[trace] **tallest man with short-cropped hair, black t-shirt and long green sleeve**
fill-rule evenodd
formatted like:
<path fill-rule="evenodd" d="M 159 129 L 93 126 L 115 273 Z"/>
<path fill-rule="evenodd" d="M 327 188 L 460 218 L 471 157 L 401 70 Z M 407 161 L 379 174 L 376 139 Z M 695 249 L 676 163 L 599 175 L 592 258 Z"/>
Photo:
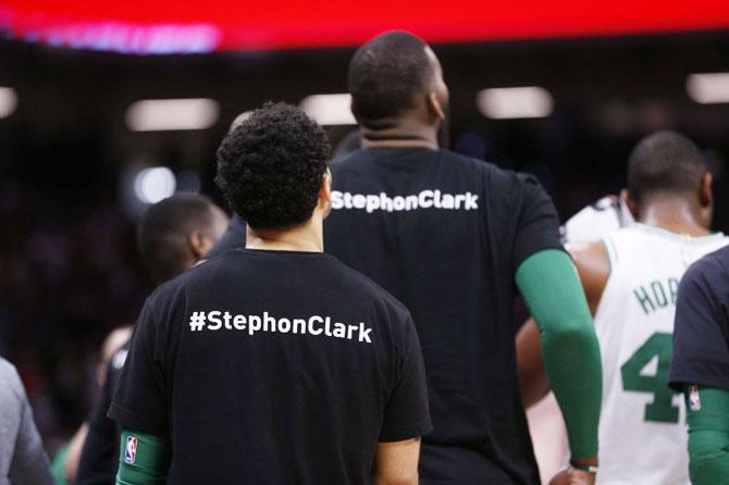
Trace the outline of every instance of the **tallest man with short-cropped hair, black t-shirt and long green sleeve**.
<path fill-rule="evenodd" d="M 434 430 L 423 483 L 539 482 L 515 363 L 518 287 L 542 329 L 573 467 L 594 480 L 601 369 L 592 320 L 533 178 L 438 150 L 448 89 L 433 51 L 407 33 L 349 65 L 363 149 L 333 163 L 326 249 L 412 312 Z"/>

